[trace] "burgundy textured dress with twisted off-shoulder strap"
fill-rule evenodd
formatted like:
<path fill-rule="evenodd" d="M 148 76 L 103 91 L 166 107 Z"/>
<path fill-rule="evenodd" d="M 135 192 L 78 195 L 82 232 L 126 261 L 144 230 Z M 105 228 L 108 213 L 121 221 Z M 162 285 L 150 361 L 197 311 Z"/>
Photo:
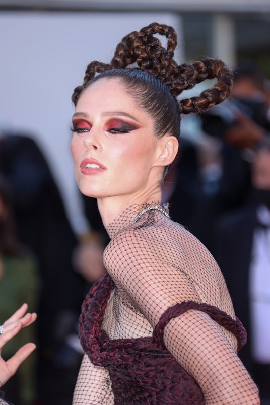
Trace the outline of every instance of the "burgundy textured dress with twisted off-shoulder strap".
<path fill-rule="evenodd" d="M 108 370 L 114 403 L 204 404 L 204 396 L 197 382 L 164 346 L 164 327 L 170 319 L 189 309 L 203 311 L 236 336 L 239 350 L 246 343 L 242 323 L 214 306 L 188 301 L 165 311 L 154 329 L 153 337 L 109 339 L 102 330 L 102 320 L 114 288 L 109 275 L 100 279 L 87 295 L 80 317 L 82 347 L 94 365 Z"/>

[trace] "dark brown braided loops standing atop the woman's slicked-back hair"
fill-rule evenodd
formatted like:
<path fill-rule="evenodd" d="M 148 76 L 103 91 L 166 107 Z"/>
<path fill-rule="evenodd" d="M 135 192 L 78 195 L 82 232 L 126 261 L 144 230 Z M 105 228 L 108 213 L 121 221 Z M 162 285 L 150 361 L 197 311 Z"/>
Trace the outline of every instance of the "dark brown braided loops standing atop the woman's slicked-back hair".
<path fill-rule="evenodd" d="M 162 46 L 156 35 L 167 38 L 166 48 Z M 177 65 L 173 59 L 176 45 L 175 30 L 165 24 L 152 23 L 140 31 L 132 31 L 116 46 L 110 64 L 93 61 L 87 66 L 84 82 L 82 86 L 76 87 L 72 100 L 75 104 L 77 103 L 80 93 L 96 73 L 110 69 L 125 69 L 137 63 L 139 69 L 149 72 L 163 82 L 174 97 L 206 79 L 217 79 L 212 88 L 204 90 L 198 97 L 178 102 L 179 109 L 184 114 L 199 113 L 222 102 L 229 95 L 232 87 L 232 71 L 221 60 L 211 58 L 192 64 Z"/>

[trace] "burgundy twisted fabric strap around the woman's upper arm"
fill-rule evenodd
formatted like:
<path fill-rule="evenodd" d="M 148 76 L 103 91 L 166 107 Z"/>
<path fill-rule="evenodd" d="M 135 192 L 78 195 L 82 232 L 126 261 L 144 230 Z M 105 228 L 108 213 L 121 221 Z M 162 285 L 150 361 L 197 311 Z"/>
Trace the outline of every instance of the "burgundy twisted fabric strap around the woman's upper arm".
<path fill-rule="evenodd" d="M 238 342 L 238 351 L 242 349 L 243 346 L 246 344 L 247 340 L 247 333 L 242 324 L 242 322 L 236 318 L 234 320 L 230 315 L 227 315 L 226 312 L 221 311 L 219 308 L 209 305 L 209 304 L 198 304 L 194 301 L 184 301 L 180 304 L 175 304 L 172 307 L 168 308 L 160 317 L 159 322 L 155 326 L 153 331 L 153 341 L 156 345 L 160 348 L 166 348 L 164 345 L 164 328 L 167 323 L 180 315 L 184 312 L 195 309 L 197 311 L 203 311 L 207 315 L 209 315 L 214 321 L 216 321 L 219 325 L 225 327 L 225 329 L 229 330 L 233 333 Z"/>

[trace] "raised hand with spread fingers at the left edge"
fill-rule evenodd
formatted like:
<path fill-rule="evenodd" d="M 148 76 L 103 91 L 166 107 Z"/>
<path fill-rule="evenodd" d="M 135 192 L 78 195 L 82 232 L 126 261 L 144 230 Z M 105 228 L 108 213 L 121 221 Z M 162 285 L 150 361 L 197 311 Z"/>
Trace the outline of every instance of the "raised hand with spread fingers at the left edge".
<path fill-rule="evenodd" d="M 1 357 L 1 351 L 5 344 L 10 341 L 22 328 L 31 325 L 37 315 L 26 313 L 27 304 L 23 304 L 9 319 L 3 323 L 3 332 L 0 334 L 0 387 L 15 374 L 20 364 L 35 350 L 36 345 L 27 343 L 22 346 L 14 356 L 5 361 Z"/>

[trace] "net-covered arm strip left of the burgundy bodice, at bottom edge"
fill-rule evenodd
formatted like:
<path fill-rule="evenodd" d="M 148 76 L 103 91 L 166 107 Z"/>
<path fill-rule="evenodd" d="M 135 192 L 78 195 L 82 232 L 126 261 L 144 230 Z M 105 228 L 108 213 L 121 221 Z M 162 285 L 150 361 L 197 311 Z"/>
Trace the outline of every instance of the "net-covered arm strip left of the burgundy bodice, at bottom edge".
<path fill-rule="evenodd" d="M 113 405 L 114 396 L 111 380 L 104 367 L 95 366 L 87 355 L 84 356 L 78 375 L 73 405 Z"/>

